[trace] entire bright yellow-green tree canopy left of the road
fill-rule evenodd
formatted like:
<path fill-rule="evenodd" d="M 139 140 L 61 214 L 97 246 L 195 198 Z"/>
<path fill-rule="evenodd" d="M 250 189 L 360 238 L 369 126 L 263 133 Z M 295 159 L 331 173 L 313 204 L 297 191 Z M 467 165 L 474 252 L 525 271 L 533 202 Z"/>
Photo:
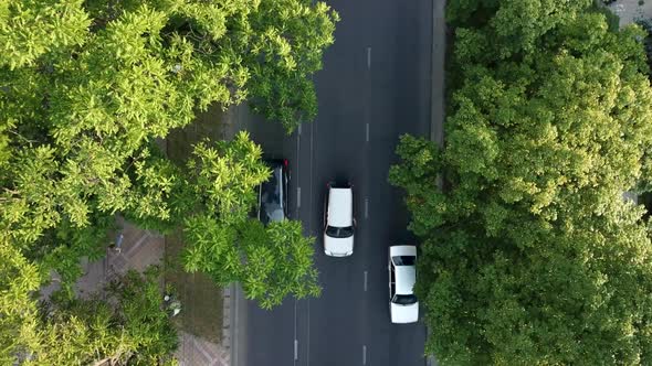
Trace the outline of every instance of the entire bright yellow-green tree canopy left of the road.
<path fill-rule="evenodd" d="M 46 324 L 28 301 L 51 271 L 74 299 L 80 259 L 104 252 L 116 214 L 185 227 L 186 268 L 242 281 L 265 308 L 318 294 L 301 225 L 249 217 L 270 172 L 245 133 L 201 142 L 179 165 L 154 146 L 196 111 L 250 96 L 288 130 L 314 118 L 309 77 L 336 21 L 304 0 L 0 2 L 0 291 L 21 291 L 0 292 L 1 364 L 29 352 L 33 364 L 167 362 L 173 334 L 156 286 L 129 278 L 147 299 L 114 299 L 126 301 L 117 313 L 66 304 Z"/>

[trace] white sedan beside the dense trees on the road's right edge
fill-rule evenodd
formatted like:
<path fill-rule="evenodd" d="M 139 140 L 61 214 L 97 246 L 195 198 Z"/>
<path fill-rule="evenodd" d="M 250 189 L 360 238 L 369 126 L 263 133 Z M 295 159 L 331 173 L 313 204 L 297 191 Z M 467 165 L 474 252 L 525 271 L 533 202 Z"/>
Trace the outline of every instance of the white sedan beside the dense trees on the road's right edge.
<path fill-rule="evenodd" d="M 417 282 L 417 247 L 389 247 L 389 313 L 392 323 L 419 321 L 419 301 L 414 295 Z"/>

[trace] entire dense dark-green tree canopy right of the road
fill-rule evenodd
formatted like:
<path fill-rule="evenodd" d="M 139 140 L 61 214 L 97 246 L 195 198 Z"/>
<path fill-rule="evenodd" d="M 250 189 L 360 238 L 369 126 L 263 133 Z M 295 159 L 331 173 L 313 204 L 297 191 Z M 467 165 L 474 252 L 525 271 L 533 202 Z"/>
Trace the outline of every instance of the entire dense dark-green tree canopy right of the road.
<path fill-rule="evenodd" d="M 492 3 L 487 24 L 513 4 Z M 459 34 L 444 149 L 403 137 L 390 171 L 423 239 L 427 352 L 452 365 L 650 364 L 651 233 L 622 198 L 649 186 L 641 30 L 612 33 L 585 11 L 533 25 L 532 42 L 493 40 L 509 57 L 473 50 L 494 31 Z"/>

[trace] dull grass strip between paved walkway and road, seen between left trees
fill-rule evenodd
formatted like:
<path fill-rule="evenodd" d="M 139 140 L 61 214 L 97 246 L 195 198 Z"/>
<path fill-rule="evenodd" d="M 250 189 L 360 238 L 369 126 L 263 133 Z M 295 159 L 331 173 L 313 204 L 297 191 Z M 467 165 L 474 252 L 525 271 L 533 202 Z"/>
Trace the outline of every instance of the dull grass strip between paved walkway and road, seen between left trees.
<path fill-rule="evenodd" d="M 193 123 L 175 130 L 167 137 L 167 154 L 179 165 L 185 165 L 192 146 L 206 138 L 223 139 L 222 111 L 211 106 L 199 114 Z M 180 229 L 166 236 L 165 281 L 170 284 L 179 301 L 181 312 L 173 317 L 177 326 L 206 341 L 220 343 L 222 338 L 222 290 L 203 273 L 188 273 L 181 265 L 183 236 Z"/>

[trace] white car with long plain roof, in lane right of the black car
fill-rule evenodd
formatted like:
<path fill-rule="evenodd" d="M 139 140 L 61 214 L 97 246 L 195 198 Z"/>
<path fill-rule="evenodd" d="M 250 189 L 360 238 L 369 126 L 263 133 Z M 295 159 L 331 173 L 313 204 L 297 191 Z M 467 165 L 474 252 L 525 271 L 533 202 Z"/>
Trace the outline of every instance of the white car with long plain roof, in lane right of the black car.
<path fill-rule="evenodd" d="M 330 257 L 354 254 L 354 190 L 328 184 L 324 205 L 324 252 Z"/>

